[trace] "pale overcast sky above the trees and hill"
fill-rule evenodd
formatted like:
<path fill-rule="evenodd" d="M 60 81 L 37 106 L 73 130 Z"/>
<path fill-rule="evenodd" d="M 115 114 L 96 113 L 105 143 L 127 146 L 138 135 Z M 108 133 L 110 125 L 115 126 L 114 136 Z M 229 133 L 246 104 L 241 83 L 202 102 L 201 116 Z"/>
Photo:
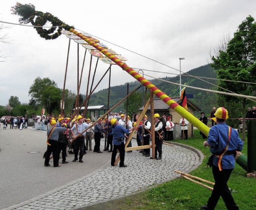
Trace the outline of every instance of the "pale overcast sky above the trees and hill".
<path fill-rule="evenodd" d="M 207 57 L 221 37 L 231 36 L 238 25 L 248 15 L 256 18 L 255 0 L 129 0 L 129 1 L 67 1 L 67 0 L 20 0 L 21 4 L 31 3 L 37 11 L 50 12 L 76 30 L 92 34 L 94 37 L 112 42 L 134 52 L 150 57 L 161 63 L 180 68 L 182 71 L 208 63 Z M 18 23 L 18 16 L 11 14 L 14 0 L 1 0 L 0 20 Z M 68 52 L 65 35 L 56 40 L 44 40 L 33 27 L 14 26 L 0 30 L 0 37 L 7 35 L 10 44 L 0 42 L 0 53 L 9 55 L 0 59 L 0 105 L 8 104 L 10 96 L 18 96 L 21 103 L 28 103 L 28 91 L 36 77 L 49 77 L 58 87 L 63 88 L 64 72 Z M 118 54 L 125 56 L 130 67 L 179 73 L 174 69 L 131 53 L 106 41 Z M 80 69 L 85 49 L 79 48 Z M 77 87 L 77 44 L 71 41 L 66 88 L 76 91 Z M 86 55 L 86 65 L 80 93 L 86 93 L 90 53 Z M 92 59 L 94 71 L 96 57 Z M 109 65 L 99 61 L 97 82 Z M 145 74 L 155 77 L 173 76 L 164 73 Z M 150 77 L 145 76 L 146 79 Z M 118 66 L 112 67 L 111 86 L 135 81 Z M 103 79 L 98 90 L 108 87 L 108 76 Z"/>

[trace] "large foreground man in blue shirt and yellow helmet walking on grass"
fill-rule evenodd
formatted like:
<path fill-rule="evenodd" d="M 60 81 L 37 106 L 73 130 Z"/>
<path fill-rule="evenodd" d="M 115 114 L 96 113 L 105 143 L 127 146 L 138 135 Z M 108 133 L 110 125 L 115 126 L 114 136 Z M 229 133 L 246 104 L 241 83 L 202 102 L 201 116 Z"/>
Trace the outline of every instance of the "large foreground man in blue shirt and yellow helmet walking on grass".
<path fill-rule="evenodd" d="M 214 155 L 210 166 L 215 184 L 206 206 L 203 209 L 214 209 L 220 196 L 228 209 L 238 210 L 238 206 L 230 193 L 227 182 L 235 166 L 236 151 L 243 149 L 243 141 L 239 138 L 238 132 L 226 125 L 228 111 L 220 107 L 214 113 L 216 124 L 211 127 L 208 141 L 204 141 L 204 147 L 210 147 Z"/>

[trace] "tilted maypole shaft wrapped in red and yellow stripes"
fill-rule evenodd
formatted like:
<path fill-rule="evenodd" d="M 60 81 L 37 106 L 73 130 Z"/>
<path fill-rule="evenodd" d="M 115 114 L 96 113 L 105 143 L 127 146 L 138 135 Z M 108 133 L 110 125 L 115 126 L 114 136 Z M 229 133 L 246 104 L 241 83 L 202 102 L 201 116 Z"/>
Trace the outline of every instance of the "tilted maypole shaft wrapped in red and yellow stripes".
<path fill-rule="evenodd" d="M 89 37 L 84 36 L 83 34 L 77 32 L 74 29 L 70 29 L 70 32 L 76 34 L 79 36 L 82 40 L 86 41 L 88 44 L 102 52 L 106 57 L 111 59 L 114 63 L 119 65 L 124 71 L 132 75 L 135 79 L 137 79 L 140 83 L 142 83 L 147 89 L 150 89 L 153 91 L 154 95 L 156 95 L 158 98 L 160 98 L 164 103 L 166 103 L 168 106 L 170 106 L 172 109 L 174 109 L 176 112 L 178 112 L 182 117 L 186 118 L 192 125 L 197 127 L 204 135 L 208 136 L 210 128 L 207 125 L 204 125 L 200 120 L 198 120 L 194 115 L 190 114 L 186 109 L 178 105 L 174 100 L 172 100 L 168 95 L 163 93 L 160 89 L 158 89 L 155 85 L 150 83 L 147 79 L 142 77 L 139 73 L 134 71 L 131 67 L 126 65 L 123 61 L 112 55 L 106 48 L 102 48 L 99 46 L 96 42 L 93 42 Z"/>

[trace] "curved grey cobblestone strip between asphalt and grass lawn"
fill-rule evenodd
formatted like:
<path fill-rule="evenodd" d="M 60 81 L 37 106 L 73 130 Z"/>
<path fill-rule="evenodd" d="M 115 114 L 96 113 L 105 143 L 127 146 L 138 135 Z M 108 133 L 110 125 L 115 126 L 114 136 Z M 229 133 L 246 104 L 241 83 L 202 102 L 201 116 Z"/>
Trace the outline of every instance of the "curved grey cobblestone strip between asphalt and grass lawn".
<path fill-rule="evenodd" d="M 66 210 L 90 206 L 177 178 L 180 174 L 176 174 L 174 170 L 190 172 L 201 164 L 201 160 L 190 149 L 163 144 L 162 160 L 152 160 L 133 151 L 126 153 L 125 164 L 128 167 L 108 164 L 62 189 L 10 206 L 6 210 Z M 147 175 L 142 178 L 142 174 Z"/>

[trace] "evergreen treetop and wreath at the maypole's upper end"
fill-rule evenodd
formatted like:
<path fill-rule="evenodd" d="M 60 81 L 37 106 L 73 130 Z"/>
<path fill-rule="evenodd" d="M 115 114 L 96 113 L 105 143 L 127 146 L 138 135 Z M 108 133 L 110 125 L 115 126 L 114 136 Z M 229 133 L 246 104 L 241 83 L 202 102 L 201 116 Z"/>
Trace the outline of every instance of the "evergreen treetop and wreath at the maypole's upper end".
<path fill-rule="evenodd" d="M 20 24 L 31 23 L 33 26 L 44 26 L 47 22 L 50 22 L 52 24 L 52 28 L 49 30 L 42 27 L 34 27 L 40 37 L 46 40 L 54 40 L 58 38 L 58 36 L 61 35 L 62 29 L 69 31 L 70 28 L 74 28 L 74 26 L 68 26 L 49 12 L 43 13 L 36 11 L 33 4 L 20 4 L 17 2 L 15 6 L 12 6 L 11 11 L 12 14 L 21 16 L 21 18 L 19 18 Z"/>

